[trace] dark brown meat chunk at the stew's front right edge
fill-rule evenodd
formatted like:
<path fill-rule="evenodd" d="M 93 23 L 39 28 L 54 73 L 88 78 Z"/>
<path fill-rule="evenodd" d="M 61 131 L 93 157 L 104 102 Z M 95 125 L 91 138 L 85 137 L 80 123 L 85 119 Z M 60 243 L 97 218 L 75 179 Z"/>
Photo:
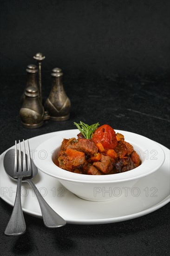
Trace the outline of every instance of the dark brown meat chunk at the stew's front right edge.
<path fill-rule="evenodd" d="M 116 173 L 127 172 L 134 168 L 136 168 L 136 166 L 130 156 L 121 158 L 115 163 Z"/>

